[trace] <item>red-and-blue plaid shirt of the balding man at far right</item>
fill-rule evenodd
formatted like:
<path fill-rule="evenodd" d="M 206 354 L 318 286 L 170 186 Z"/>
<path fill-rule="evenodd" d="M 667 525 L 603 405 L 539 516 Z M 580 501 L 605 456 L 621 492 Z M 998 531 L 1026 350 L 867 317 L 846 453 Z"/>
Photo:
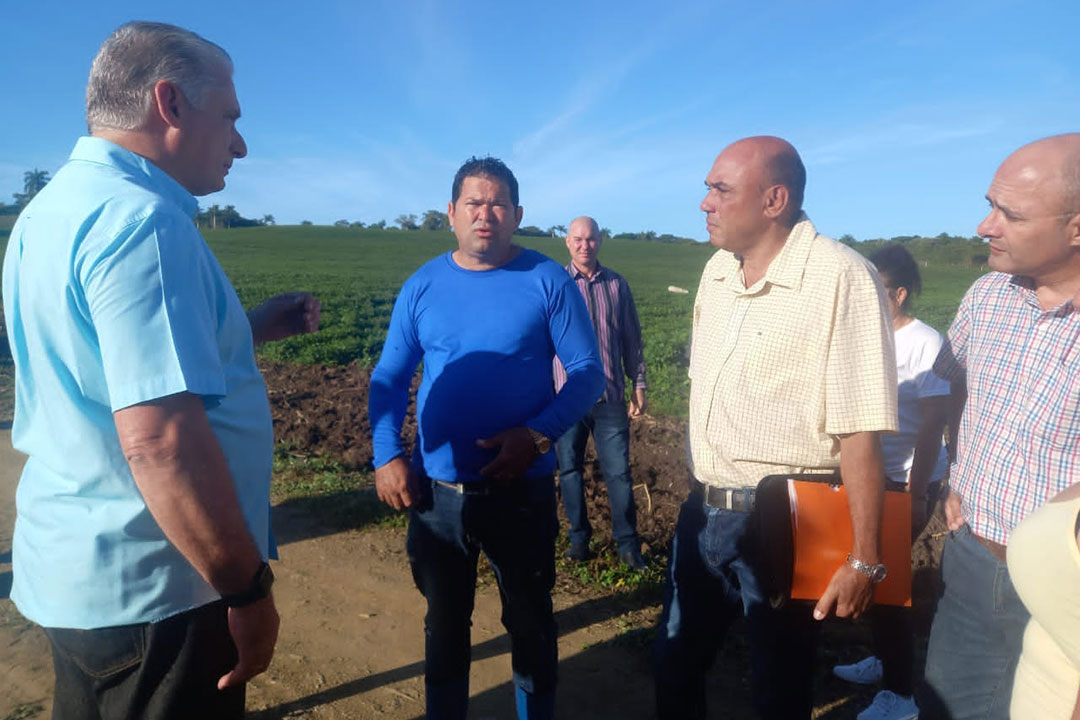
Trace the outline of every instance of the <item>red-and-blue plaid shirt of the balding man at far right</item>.
<path fill-rule="evenodd" d="M 1007 543 L 1080 480 L 1080 312 L 1043 310 L 1028 281 L 991 272 L 964 295 L 934 372 L 967 372 L 950 484 L 972 531 Z"/>

